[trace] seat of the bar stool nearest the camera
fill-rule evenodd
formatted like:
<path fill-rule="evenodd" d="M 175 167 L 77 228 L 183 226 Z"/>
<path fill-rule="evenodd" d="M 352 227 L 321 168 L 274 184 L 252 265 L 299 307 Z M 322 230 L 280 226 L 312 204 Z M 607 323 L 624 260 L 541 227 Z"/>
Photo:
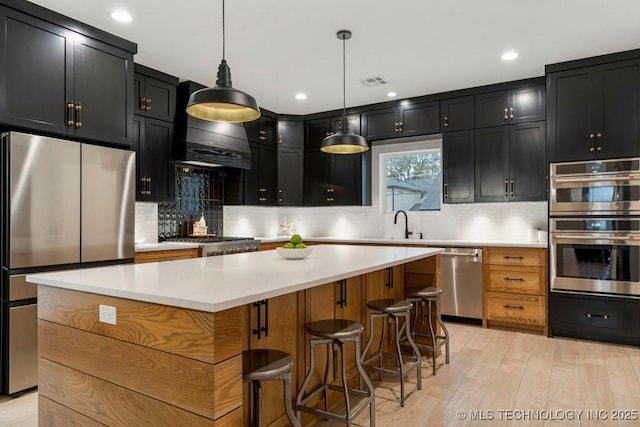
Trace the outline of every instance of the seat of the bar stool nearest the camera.
<path fill-rule="evenodd" d="M 293 368 L 293 357 L 280 350 L 258 349 L 242 352 L 242 380 L 265 381 L 278 378 Z"/>

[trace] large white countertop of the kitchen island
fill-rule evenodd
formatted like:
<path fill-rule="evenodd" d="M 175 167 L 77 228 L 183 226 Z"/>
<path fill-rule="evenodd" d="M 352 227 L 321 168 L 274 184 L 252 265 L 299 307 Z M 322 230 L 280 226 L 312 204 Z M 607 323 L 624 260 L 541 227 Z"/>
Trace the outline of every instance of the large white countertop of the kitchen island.
<path fill-rule="evenodd" d="M 302 260 L 275 250 L 30 274 L 27 281 L 156 304 L 218 312 L 403 264 L 441 248 L 317 245 Z"/>

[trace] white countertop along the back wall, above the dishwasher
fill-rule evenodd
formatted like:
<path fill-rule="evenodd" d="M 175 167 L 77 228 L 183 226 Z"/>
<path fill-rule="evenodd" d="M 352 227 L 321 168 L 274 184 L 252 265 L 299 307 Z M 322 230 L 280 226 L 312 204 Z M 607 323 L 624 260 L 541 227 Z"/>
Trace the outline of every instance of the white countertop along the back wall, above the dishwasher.
<path fill-rule="evenodd" d="M 288 242 L 288 236 L 277 237 L 256 237 L 256 240 L 260 240 L 263 243 L 272 242 Z M 547 248 L 549 244 L 547 242 L 523 242 L 515 241 L 509 242 L 504 240 L 427 240 L 427 239 L 394 239 L 387 237 L 306 237 L 305 240 L 312 242 L 327 242 L 327 243 L 381 243 L 389 245 L 425 245 L 425 246 L 449 246 L 449 247 L 509 247 L 509 248 Z"/>

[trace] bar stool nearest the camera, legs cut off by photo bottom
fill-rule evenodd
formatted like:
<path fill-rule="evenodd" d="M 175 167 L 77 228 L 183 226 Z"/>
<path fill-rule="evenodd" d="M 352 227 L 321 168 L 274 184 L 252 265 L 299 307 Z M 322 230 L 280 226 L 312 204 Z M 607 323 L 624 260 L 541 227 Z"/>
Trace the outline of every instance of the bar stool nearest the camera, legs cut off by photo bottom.
<path fill-rule="evenodd" d="M 242 352 L 242 380 L 253 389 L 253 426 L 262 427 L 262 381 L 284 382 L 284 408 L 294 427 L 301 427 L 291 406 L 291 370 L 293 357 L 279 350 L 245 350 Z"/>

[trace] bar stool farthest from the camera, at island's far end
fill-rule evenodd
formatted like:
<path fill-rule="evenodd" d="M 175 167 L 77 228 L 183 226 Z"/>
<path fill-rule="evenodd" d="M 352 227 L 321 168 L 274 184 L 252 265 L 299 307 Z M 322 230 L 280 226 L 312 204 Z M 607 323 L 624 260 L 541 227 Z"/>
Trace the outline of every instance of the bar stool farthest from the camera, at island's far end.
<path fill-rule="evenodd" d="M 407 300 L 411 302 L 419 302 L 420 303 L 420 312 L 421 312 L 421 321 L 420 323 L 424 325 L 424 307 L 425 305 L 428 307 L 427 309 L 427 319 L 429 321 L 429 334 L 425 334 L 422 332 L 416 332 L 416 323 L 418 321 L 418 307 L 416 307 L 415 316 L 413 319 L 413 326 L 411 328 L 411 335 L 413 335 L 414 342 L 416 341 L 416 337 L 427 337 L 431 339 L 431 345 L 423 344 L 416 342 L 418 348 L 422 348 L 425 350 L 431 351 L 433 358 L 433 375 L 436 374 L 436 352 L 437 350 L 445 346 L 445 361 L 449 363 L 449 331 L 442 321 L 442 317 L 440 315 L 440 295 L 442 295 L 442 289 L 428 287 L 424 288 L 418 292 L 414 292 L 407 296 Z M 435 333 L 433 320 L 431 318 L 431 303 L 433 303 L 436 307 L 436 321 L 442 328 L 442 335 L 438 335 Z"/>

